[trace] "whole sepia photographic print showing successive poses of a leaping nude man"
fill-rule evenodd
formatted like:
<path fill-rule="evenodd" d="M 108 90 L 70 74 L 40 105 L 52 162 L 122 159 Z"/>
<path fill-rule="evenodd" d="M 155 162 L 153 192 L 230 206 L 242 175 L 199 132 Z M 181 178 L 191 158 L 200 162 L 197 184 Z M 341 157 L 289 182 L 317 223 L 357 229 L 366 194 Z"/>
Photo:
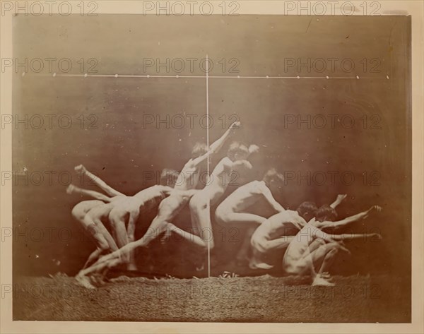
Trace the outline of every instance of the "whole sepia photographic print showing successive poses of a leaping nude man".
<path fill-rule="evenodd" d="M 413 16 L 37 2 L 1 6 L 13 322 L 411 323 Z"/>

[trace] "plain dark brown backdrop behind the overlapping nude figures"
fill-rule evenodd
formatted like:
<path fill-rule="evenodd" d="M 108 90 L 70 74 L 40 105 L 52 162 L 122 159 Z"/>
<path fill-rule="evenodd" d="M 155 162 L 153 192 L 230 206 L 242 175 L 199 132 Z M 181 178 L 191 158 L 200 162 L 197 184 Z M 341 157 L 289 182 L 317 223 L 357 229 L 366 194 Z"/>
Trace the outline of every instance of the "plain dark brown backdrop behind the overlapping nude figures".
<path fill-rule="evenodd" d="M 78 59 L 98 59 L 99 74 L 179 74 L 204 76 L 199 61 L 193 73 L 159 73 L 155 68 L 143 72 L 143 58 L 174 59 L 206 54 L 219 61 L 237 58 L 239 73 L 223 73 L 214 66 L 212 76 L 350 76 L 352 79 L 225 79 L 209 80 L 209 110 L 215 124 L 211 141 L 223 133 L 230 115 L 236 114 L 242 129 L 235 138 L 256 143 L 260 153 L 252 157 L 254 171 L 240 184 L 260 178 L 268 167 L 280 172 L 322 171 L 353 172 L 355 181 L 347 186 L 336 177 L 324 185 L 288 181 L 275 196 L 280 203 L 295 209 L 302 201 L 331 203 L 337 193 L 348 193 L 338 208 L 346 217 L 370 205 L 378 204 L 382 213 L 352 225 L 351 232 L 379 231 L 379 242 L 360 240 L 349 243 L 353 256 L 342 257 L 334 266 L 336 273 L 387 273 L 401 275 L 406 282 L 411 275 L 411 102 L 410 102 L 410 32 L 408 17 L 157 17 L 131 15 L 40 16 L 14 18 L 14 57 L 69 58 L 69 73 L 81 73 Z M 355 70 L 317 73 L 285 73 L 284 59 L 351 58 Z M 364 73 L 360 61 L 377 58 L 379 73 Z M 47 63 L 46 63 L 47 64 Z M 57 67 L 54 67 L 57 68 Z M 17 275 L 47 275 L 58 271 L 73 275 L 93 249 L 92 242 L 71 217 L 71 208 L 79 196 L 65 193 L 69 172 L 76 185 L 73 167 L 85 165 L 115 189 L 133 194 L 155 180 L 146 180 L 143 171 L 160 172 L 164 167 L 180 170 L 189 159 L 192 145 L 206 141 L 206 130 L 195 121 L 183 129 L 155 129 L 143 126 L 143 114 L 166 115 L 206 113 L 204 78 L 81 78 L 22 76 L 18 69 L 13 80 L 13 113 L 24 115 L 56 114 L 52 129 L 13 129 L 13 171 L 23 174 L 54 171 L 52 184 L 47 174 L 40 185 L 15 177 L 13 183 L 13 272 Z M 59 71 L 57 71 L 60 73 Z M 43 73 L 48 73 L 47 68 Z M 389 76 L 389 80 L 386 76 Z M 57 118 L 71 117 L 70 129 L 61 129 Z M 81 129 L 81 114 L 97 117 L 98 129 Z M 353 129 L 329 123 L 324 129 L 285 124 L 284 117 L 294 114 L 349 114 L 355 119 Z M 380 129 L 363 129 L 360 119 L 379 116 Z M 197 117 L 197 120 L 199 119 Z M 46 120 L 46 119 L 45 119 Z M 225 154 L 223 148 L 220 156 Z M 215 160 L 212 162 L 216 163 Z M 377 184 L 363 182 L 363 172 L 379 172 Z M 340 175 L 339 174 L 339 175 Z M 18 175 L 18 174 L 16 174 Z M 329 176 L 329 174 L 327 174 Z M 35 179 L 37 177 L 35 176 Z M 93 188 L 93 186 L 83 186 Z M 94 189 L 94 188 L 93 188 Z M 228 191 L 234 190 L 230 187 Z M 257 210 L 266 211 L 258 205 Z M 263 213 L 270 215 L 271 212 Z M 154 216 L 154 213 L 151 214 Z M 148 222 L 150 216 L 142 217 Z M 189 214 L 183 212 L 177 222 L 189 226 Z M 141 224 L 140 224 L 141 225 Z M 228 262 L 240 246 L 242 231 L 235 239 L 228 230 L 216 227 L 225 245 L 222 262 Z M 26 229 L 26 233 L 25 233 Z M 40 229 L 40 230 L 38 230 Z M 52 230 L 49 237 L 48 229 Z M 66 229 L 66 230 L 64 230 Z M 219 229 L 219 230 L 218 230 Z M 61 232 L 64 231 L 64 232 Z M 18 232 L 23 234 L 18 234 Z M 40 234 L 41 232 L 41 234 Z M 71 235 L 69 236 L 69 232 Z M 59 234 L 63 233 L 63 234 Z M 138 232 L 140 235 L 142 231 Z M 40 237 L 41 235 L 41 237 Z M 26 236 L 26 237 L 25 237 Z M 28 239 L 25 239 L 27 238 Z M 218 239 L 219 239 L 218 238 Z M 230 240 L 231 239 L 231 240 Z M 231 242 L 231 241 L 238 242 Z M 166 246 L 153 245 L 140 252 L 140 264 L 146 273 L 192 275 L 192 248 L 184 242 L 171 241 Z M 150 254 L 150 255 L 149 255 Z M 226 270 L 237 271 L 228 266 Z M 410 287 L 405 285 L 405 289 Z"/>

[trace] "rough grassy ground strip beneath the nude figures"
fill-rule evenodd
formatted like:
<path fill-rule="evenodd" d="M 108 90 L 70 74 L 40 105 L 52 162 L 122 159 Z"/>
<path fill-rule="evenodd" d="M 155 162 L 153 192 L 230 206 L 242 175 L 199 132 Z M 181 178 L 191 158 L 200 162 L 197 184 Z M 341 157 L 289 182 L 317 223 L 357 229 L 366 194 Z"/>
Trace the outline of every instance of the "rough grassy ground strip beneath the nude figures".
<path fill-rule="evenodd" d="M 14 320 L 409 322 L 405 283 L 380 275 L 334 277 L 335 287 L 307 279 L 160 279 L 121 276 L 97 290 L 73 278 L 18 278 Z"/>

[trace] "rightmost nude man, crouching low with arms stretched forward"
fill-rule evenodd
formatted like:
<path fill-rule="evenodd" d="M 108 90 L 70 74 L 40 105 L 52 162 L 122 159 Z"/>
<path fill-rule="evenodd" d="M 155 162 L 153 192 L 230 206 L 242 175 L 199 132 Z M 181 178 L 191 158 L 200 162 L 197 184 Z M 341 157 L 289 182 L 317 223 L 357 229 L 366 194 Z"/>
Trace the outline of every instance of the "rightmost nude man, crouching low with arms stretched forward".
<path fill-rule="evenodd" d="M 331 223 L 326 222 L 326 220 L 334 216 L 334 208 L 326 206 L 322 210 L 319 209 L 316 218 L 305 225 L 290 241 L 283 257 L 283 270 L 293 275 L 310 274 L 313 280 L 312 285 L 334 285 L 334 283 L 326 279 L 324 273 L 329 271 L 339 251 L 346 251 L 350 254 L 350 251 L 343 245 L 343 240 L 371 237 L 382 239 L 382 237 L 377 233 L 327 234 L 321 229 L 325 227 L 340 227 L 358 219 L 365 219 L 372 210 L 379 212 L 382 208 L 374 205 L 369 210 L 353 216 L 355 218 L 350 217 L 350 219 Z M 318 273 L 316 268 L 318 268 Z"/>

